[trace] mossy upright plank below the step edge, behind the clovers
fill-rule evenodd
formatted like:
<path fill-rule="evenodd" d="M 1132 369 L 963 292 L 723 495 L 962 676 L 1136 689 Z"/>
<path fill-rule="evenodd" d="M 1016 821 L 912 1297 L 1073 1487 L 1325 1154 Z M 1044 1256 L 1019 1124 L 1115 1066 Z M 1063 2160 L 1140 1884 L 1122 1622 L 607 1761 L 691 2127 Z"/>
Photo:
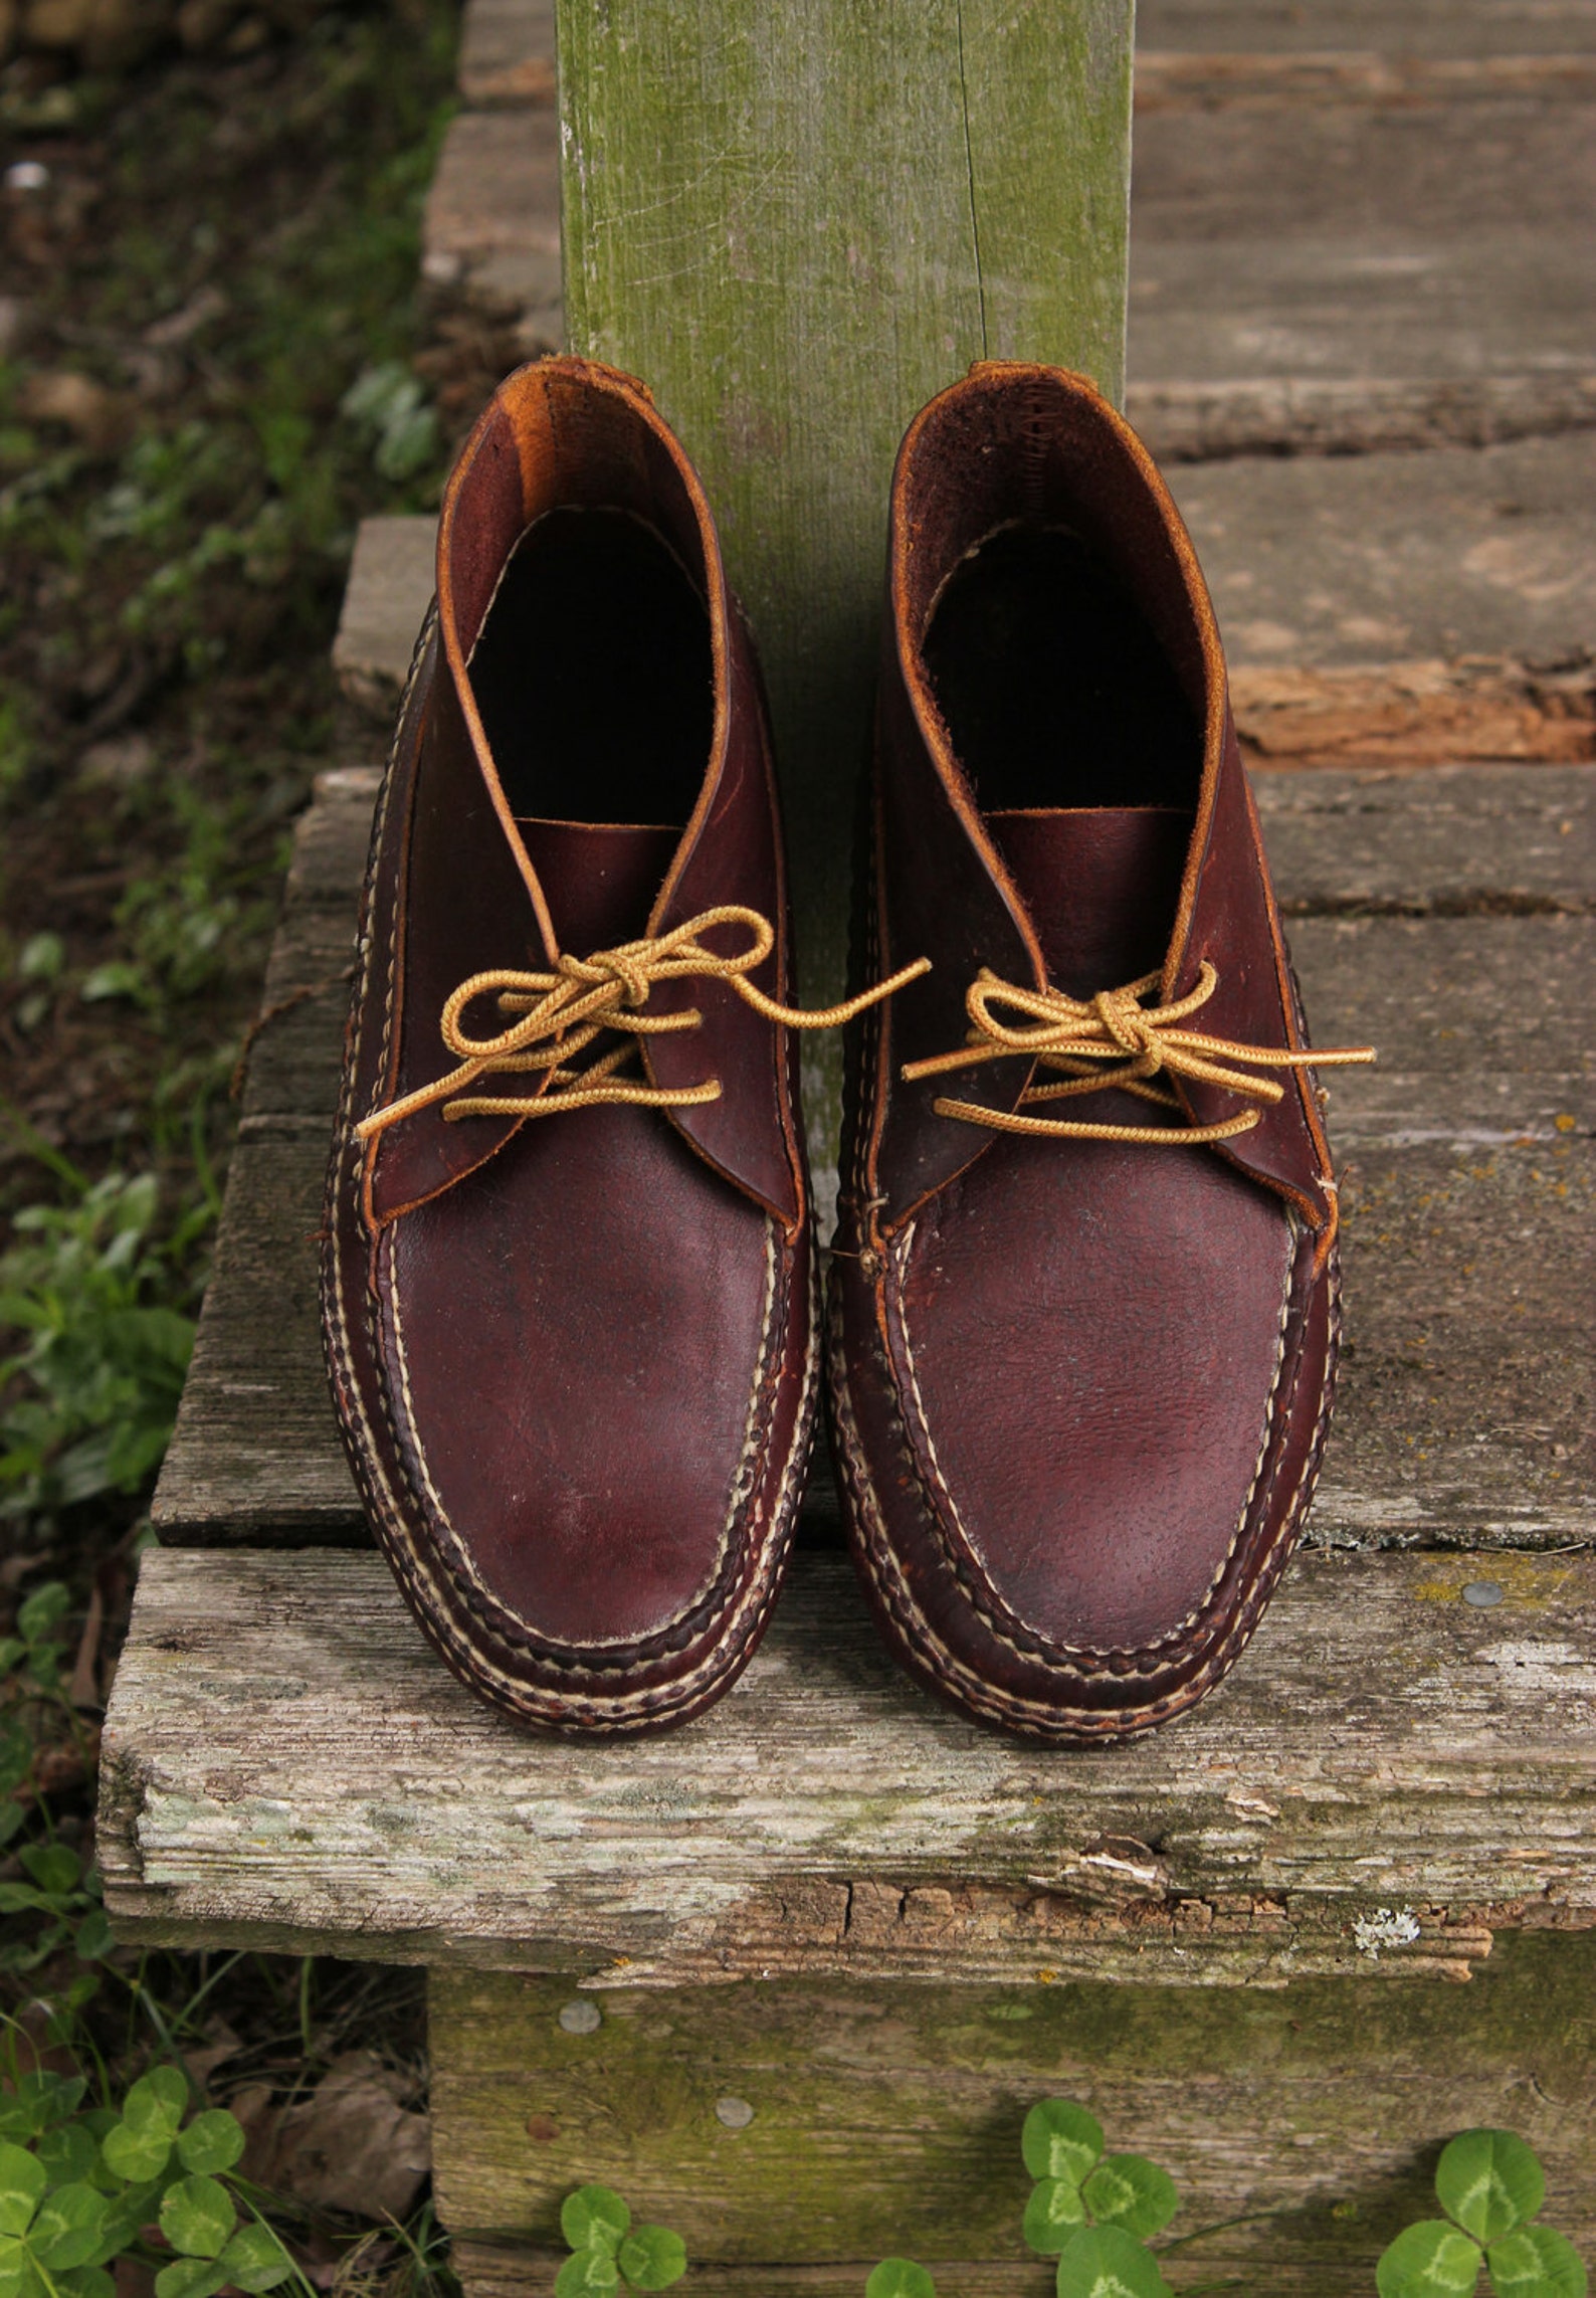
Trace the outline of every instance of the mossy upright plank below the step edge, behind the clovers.
<path fill-rule="evenodd" d="M 590 2031 L 560 2027 L 572 1999 L 597 2013 Z M 829 2273 L 857 2298 L 875 2259 L 907 2252 L 960 2298 L 1040 2298 L 1052 2273 L 1020 2238 L 1020 2126 L 1031 2100 L 1068 2096 L 1091 2103 L 1109 2146 L 1171 2172 L 1173 2238 L 1265 2220 L 1173 2252 L 1183 2287 L 1240 2275 L 1268 2298 L 1364 2298 L 1389 2236 L 1435 2215 L 1438 2144 L 1500 2123 L 1506 2098 L 1548 2167 L 1545 2218 L 1591 2243 L 1594 2004 L 1589 1933 L 1502 1940 L 1444 2020 L 1426 1988 L 1302 1979 L 1242 2004 L 1091 1981 L 592 1999 L 567 1981 L 443 1969 L 429 1981 L 434 2197 L 471 2245 L 471 2298 L 514 2287 L 510 2243 L 544 2245 L 547 2275 L 558 2206 L 588 2179 L 675 2227 L 696 2277 L 781 2259 L 792 2280 L 772 2289 L 829 2289 L 799 2280 Z M 716 2114 L 723 2098 L 751 2110 L 742 2128 Z M 478 2245 L 501 2257 L 478 2261 Z M 533 2270 L 524 2257 L 521 2291 L 549 2287 Z"/>

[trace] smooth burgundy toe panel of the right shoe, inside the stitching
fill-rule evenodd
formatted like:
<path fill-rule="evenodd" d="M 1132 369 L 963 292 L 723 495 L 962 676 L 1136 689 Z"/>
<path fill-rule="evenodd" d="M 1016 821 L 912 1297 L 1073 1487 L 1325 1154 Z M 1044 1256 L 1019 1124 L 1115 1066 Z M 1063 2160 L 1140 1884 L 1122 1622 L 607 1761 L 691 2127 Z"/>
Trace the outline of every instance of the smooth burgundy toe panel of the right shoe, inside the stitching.
<path fill-rule="evenodd" d="M 999 1142 L 919 1216 L 898 1397 L 992 1634 L 1091 1666 L 1192 1632 L 1265 1466 L 1293 1259 L 1217 1158 L 1109 1142 Z"/>

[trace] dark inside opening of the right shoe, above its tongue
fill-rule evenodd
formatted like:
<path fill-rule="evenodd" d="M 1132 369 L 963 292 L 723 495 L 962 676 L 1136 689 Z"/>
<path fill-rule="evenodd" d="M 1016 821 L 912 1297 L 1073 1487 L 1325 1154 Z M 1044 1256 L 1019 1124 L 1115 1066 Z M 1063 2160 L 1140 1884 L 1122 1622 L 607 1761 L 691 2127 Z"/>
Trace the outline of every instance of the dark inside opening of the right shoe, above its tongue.
<path fill-rule="evenodd" d="M 1196 804 L 1192 701 L 1072 529 L 1008 524 L 967 552 L 932 602 L 923 660 L 985 813 Z"/>

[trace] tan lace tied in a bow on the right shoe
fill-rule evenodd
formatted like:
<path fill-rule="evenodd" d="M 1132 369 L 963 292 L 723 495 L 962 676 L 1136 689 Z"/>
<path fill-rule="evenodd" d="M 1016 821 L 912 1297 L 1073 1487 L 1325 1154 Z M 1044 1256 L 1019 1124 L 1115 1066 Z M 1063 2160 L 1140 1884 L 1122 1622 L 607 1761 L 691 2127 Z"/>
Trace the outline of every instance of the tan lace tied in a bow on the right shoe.
<path fill-rule="evenodd" d="M 1219 974 L 1203 961 L 1196 988 L 1173 1004 L 1144 1004 L 1155 993 L 1162 974 L 1144 974 L 1121 990 L 1100 990 L 1095 997 L 1066 997 L 1063 990 L 1024 990 L 1013 981 L 999 981 L 985 965 L 969 986 L 964 1011 L 971 1020 L 969 1043 L 960 1052 L 937 1052 L 928 1062 L 909 1062 L 905 1080 L 932 1078 L 948 1069 L 967 1069 L 971 1062 L 1001 1062 L 1024 1052 L 1040 1059 L 1043 1069 L 1061 1071 L 1066 1085 L 1031 1085 L 1020 1096 L 1020 1110 L 987 1110 L 976 1101 L 935 1101 L 939 1117 L 962 1117 L 974 1126 L 994 1126 L 999 1133 L 1052 1133 L 1075 1140 L 1098 1142 L 1155 1142 L 1185 1144 L 1224 1142 L 1235 1133 L 1252 1133 L 1263 1121 L 1263 1110 L 1242 1110 L 1217 1126 L 1095 1126 L 1068 1117 L 1024 1117 L 1033 1101 L 1063 1101 L 1070 1094 L 1137 1094 L 1160 1108 L 1183 1115 L 1183 1105 L 1169 1085 L 1155 1085 L 1160 1071 L 1167 1078 L 1190 1078 L 1196 1085 L 1222 1085 L 1231 1094 L 1249 1094 L 1254 1103 L 1279 1101 L 1286 1092 L 1275 1078 L 1247 1075 L 1249 1069 L 1320 1069 L 1346 1062 L 1373 1062 L 1373 1046 L 1341 1046 L 1332 1052 L 1286 1052 L 1272 1046 L 1235 1046 L 1229 1036 L 1206 1036 L 1201 1030 L 1183 1030 L 1180 1023 L 1215 993 Z M 1029 1016 L 1026 1023 L 1004 1023 L 994 1007 L 1008 1007 Z M 1245 1064 L 1245 1069 L 1235 1066 Z"/>

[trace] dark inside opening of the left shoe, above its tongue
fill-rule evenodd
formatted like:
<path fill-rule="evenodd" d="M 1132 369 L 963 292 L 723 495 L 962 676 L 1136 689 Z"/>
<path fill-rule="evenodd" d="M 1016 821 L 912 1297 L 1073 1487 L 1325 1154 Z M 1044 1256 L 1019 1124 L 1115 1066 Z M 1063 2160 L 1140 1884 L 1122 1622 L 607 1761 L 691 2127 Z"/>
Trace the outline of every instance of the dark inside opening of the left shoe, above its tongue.
<path fill-rule="evenodd" d="M 629 510 L 560 506 L 517 542 L 471 687 L 519 818 L 680 830 L 714 738 L 710 609 Z"/>

